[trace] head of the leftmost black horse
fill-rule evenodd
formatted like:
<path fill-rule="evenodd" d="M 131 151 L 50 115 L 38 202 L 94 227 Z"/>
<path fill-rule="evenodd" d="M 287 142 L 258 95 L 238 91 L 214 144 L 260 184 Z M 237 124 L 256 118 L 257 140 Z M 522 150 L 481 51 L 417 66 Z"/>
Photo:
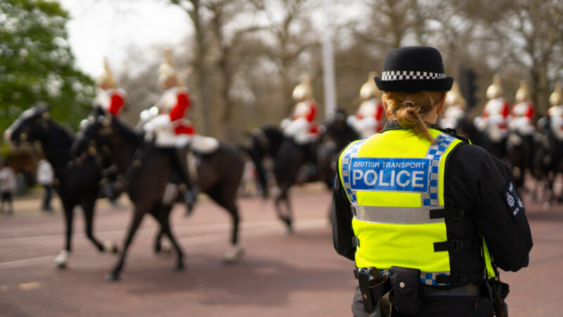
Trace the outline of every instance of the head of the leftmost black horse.
<path fill-rule="evenodd" d="M 42 139 L 49 129 L 49 108 L 46 106 L 32 106 L 23 111 L 4 132 L 6 142 L 20 144 Z"/>

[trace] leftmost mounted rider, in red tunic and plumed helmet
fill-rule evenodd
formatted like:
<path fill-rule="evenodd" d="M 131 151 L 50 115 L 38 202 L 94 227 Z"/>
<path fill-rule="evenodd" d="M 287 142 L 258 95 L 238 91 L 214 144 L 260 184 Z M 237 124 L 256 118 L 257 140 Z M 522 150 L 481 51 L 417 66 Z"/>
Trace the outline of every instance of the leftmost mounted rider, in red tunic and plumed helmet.
<path fill-rule="evenodd" d="M 115 82 L 115 78 L 108 65 L 108 60 L 105 57 L 103 58 L 103 70 L 104 72 L 96 82 L 98 87 L 96 89 L 94 105 L 100 106 L 113 114 L 113 116 L 118 116 L 121 109 L 125 107 L 127 94 L 123 89 L 118 88 L 117 82 Z"/>

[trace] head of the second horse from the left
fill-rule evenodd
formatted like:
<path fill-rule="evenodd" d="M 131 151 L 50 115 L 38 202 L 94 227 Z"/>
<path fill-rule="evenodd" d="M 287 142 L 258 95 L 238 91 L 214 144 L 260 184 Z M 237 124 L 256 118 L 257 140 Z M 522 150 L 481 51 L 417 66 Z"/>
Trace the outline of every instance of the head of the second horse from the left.
<path fill-rule="evenodd" d="M 80 130 L 72 144 L 72 154 L 80 157 L 87 152 L 96 153 L 97 144 L 103 144 L 111 134 L 113 117 L 102 108 L 94 106 L 87 119 L 80 122 Z"/>

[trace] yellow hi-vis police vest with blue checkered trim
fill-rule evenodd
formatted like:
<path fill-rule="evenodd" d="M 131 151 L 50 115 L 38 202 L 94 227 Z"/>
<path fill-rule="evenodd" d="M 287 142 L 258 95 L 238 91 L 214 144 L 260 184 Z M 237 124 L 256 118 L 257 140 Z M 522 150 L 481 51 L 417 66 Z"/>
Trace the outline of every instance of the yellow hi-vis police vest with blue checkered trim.
<path fill-rule="evenodd" d="M 388 130 L 351 143 L 339 158 L 340 178 L 353 209 L 358 268 L 418 268 L 421 282 L 450 275 L 444 208 L 444 169 L 459 139 L 429 129 L 434 144 L 412 130 Z M 488 255 L 488 254 L 487 254 Z"/>

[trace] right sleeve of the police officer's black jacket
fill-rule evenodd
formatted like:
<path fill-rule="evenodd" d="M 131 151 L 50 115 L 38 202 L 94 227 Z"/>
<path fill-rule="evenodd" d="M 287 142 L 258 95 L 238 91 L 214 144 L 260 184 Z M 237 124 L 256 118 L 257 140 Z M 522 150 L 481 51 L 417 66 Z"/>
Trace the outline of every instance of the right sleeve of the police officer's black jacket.
<path fill-rule="evenodd" d="M 485 237 L 495 264 L 505 271 L 518 271 L 528 266 L 533 243 L 524 209 L 520 209 L 518 217 L 510 210 L 514 200 L 509 201 L 507 190 L 514 186 L 512 173 L 506 163 L 486 151 L 483 151 L 477 173 L 474 221 Z M 519 201 L 517 197 L 514 199 L 516 203 Z"/>

